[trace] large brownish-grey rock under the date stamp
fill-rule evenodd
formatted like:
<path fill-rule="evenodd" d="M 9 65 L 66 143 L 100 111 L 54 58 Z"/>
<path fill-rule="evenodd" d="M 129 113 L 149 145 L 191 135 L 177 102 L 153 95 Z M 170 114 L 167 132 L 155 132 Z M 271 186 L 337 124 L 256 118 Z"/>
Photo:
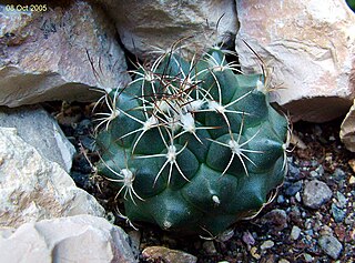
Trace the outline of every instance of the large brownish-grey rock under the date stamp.
<path fill-rule="evenodd" d="M 22 12 L 0 6 L 0 105 L 95 100 L 100 93 L 90 88 L 129 81 L 114 26 L 100 8 L 80 0 L 47 8 Z"/>

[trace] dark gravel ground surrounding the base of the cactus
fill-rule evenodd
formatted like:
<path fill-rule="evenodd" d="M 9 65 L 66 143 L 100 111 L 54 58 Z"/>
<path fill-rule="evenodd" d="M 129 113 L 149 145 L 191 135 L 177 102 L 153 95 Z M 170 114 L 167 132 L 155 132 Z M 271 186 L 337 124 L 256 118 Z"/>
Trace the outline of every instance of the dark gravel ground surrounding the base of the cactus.
<path fill-rule="evenodd" d="M 275 200 L 255 219 L 237 223 L 227 241 L 220 241 L 175 236 L 146 224 L 138 225 L 139 231 L 128 226 L 118 216 L 114 191 L 92 173 L 87 161 L 98 160 L 92 148 L 92 104 L 51 105 L 50 110 L 78 149 L 74 181 L 99 200 L 112 222 L 129 232 L 140 262 L 355 261 L 355 154 L 338 139 L 339 121 L 296 123 L 293 133 L 298 143 L 288 154 L 288 174 Z M 150 246 L 159 247 L 149 252 Z M 176 250 L 173 260 L 166 257 L 164 247 Z"/>

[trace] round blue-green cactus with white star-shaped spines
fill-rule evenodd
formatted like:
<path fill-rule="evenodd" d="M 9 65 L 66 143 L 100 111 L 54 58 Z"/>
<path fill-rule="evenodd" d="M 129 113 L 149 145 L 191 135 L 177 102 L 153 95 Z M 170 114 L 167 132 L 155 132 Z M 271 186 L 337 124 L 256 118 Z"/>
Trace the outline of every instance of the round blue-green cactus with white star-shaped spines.
<path fill-rule="evenodd" d="M 213 48 L 170 52 L 104 98 L 98 171 L 130 221 L 216 235 L 257 213 L 286 173 L 287 120 L 265 75 L 242 74 Z"/>

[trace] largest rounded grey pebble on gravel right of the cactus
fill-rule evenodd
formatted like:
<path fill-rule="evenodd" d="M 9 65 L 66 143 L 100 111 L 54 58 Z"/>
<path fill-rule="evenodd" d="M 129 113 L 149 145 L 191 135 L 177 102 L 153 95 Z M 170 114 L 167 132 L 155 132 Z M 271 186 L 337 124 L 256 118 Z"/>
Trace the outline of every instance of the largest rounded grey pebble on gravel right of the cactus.
<path fill-rule="evenodd" d="M 313 180 L 305 183 L 303 203 L 307 208 L 318 209 L 332 198 L 332 190 L 326 183 Z"/>

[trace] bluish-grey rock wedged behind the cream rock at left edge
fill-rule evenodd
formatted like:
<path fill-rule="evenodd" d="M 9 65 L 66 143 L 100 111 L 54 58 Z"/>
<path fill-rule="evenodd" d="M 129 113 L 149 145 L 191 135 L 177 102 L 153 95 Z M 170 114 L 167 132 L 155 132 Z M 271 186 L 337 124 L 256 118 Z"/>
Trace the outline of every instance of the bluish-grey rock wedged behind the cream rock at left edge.
<path fill-rule="evenodd" d="M 55 120 L 41 107 L 1 107 L 0 127 L 16 128 L 18 135 L 34 146 L 43 158 L 59 163 L 65 172 L 70 172 L 75 148 Z"/>

